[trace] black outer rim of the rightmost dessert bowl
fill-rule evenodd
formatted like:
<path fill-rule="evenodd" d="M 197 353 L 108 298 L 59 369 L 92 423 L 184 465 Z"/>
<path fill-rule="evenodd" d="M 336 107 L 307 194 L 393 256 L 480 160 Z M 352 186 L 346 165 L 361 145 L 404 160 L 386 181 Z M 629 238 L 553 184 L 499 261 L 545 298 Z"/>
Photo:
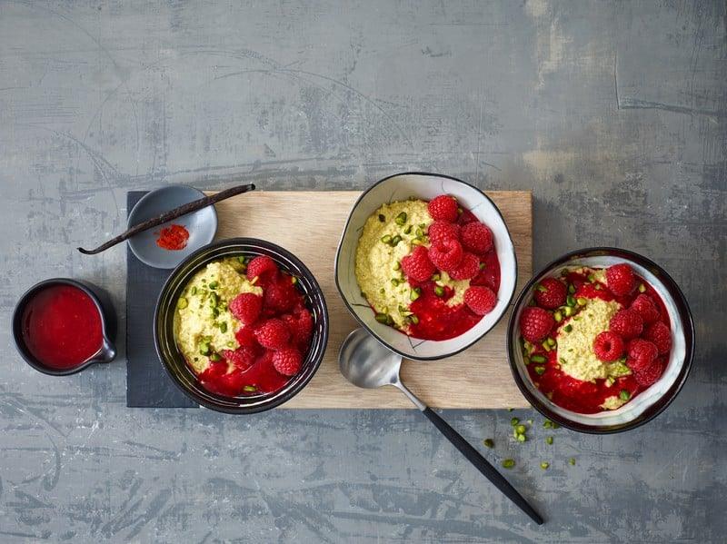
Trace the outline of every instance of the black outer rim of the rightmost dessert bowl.
<path fill-rule="evenodd" d="M 566 262 L 572 261 L 574 257 L 591 256 L 591 254 L 611 254 L 616 257 L 622 257 L 631 260 L 632 262 L 637 262 L 644 265 L 645 267 L 651 267 L 652 269 L 659 272 L 662 278 L 662 282 L 669 289 L 670 294 L 672 294 L 672 297 L 674 298 L 674 302 L 676 302 L 679 309 L 683 311 L 683 315 L 680 315 L 680 317 L 682 318 L 682 330 L 684 332 L 685 343 L 687 344 L 687 350 L 684 354 L 684 360 L 682 361 L 682 368 L 679 370 L 677 380 L 672 384 L 672 387 L 667 390 L 662 395 L 662 397 L 654 401 L 652 405 L 643 410 L 642 414 L 640 414 L 637 418 L 619 425 L 611 425 L 608 427 L 598 427 L 578 423 L 573 420 L 565 419 L 559 414 L 550 410 L 525 386 L 525 383 L 520 376 L 520 373 L 517 371 L 517 361 L 514 355 L 514 331 L 517 327 L 517 323 L 515 322 L 515 315 L 522 307 L 526 294 L 528 292 L 531 292 L 531 290 L 533 289 L 533 285 L 535 284 L 536 279 L 543 276 L 543 274 L 547 274 L 548 272 L 553 270 L 553 268 L 565 264 Z M 515 381 L 518 389 L 523 393 L 525 400 L 528 401 L 531 406 L 533 406 L 535 410 L 538 410 L 545 418 L 555 421 L 566 429 L 575 430 L 586 434 L 614 434 L 617 432 L 636 429 L 637 427 L 641 427 L 645 423 L 648 423 L 659 414 L 661 414 L 664 410 L 667 409 L 672 401 L 676 399 L 676 397 L 679 395 L 679 392 L 682 391 L 682 387 L 684 386 L 684 383 L 686 382 L 689 373 L 692 370 L 694 351 L 695 332 L 694 321 L 692 318 L 692 310 L 689 307 L 689 303 L 687 302 L 687 299 L 677 282 L 675 282 L 672 276 L 669 275 L 669 273 L 666 272 L 659 264 L 653 262 L 648 257 L 644 257 L 642 254 L 632 252 L 631 250 L 625 250 L 612 246 L 587 247 L 579 250 L 574 250 L 572 252 L 567 252 L 543 266 L 542 269 L 533 274 L 533 277 L 525 284 L 523 290 L 518 295 L 517 299 L 513 304 L 513 312 L 510 314 L 510 320 L 508 321 L 507 325 L 507 359 L 510 363 L 509 366 L 511 373 L 513 374 L 513 380 Z"/>

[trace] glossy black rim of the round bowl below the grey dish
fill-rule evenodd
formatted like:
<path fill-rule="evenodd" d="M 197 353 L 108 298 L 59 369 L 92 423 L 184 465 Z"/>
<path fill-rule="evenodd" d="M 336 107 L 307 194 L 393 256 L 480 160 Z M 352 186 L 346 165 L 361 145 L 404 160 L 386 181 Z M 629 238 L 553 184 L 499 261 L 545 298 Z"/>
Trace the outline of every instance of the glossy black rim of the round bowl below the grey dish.
<path fill-rule="evenodd" d="M 264 246 L 268 247 L 270 249 L 274 249 L 276 252 L 283 253 L 288 259 L 295 262 L 297 266 L 299 266 L 304 272 L 307 272 L 313 281 L 314 288 L 316 292 L 320 295 L 320 302 L 321 302 L 321 322 L 322 322 L 322 339 L 324 348 L 321 351 L 320 355 L 316 357 L 313 360 L 313 366 L 314 369 L 310 373 L 309 376 L 307 376 L 304 380 L 298 381 L 294 384 L 293 387 L 291 387 L 288 390 L 285 390 L 285 388 L 279 390 L 284 391 L 282 395 L 280 395 L 278 398 L 276 398 L 274 401 L 271 402 L 265 402 L 263 401 L 260 404 L 257 404 L 252 407 L 244 407 L 244 406 L 234 406 L 234 407 L 227 407 L 227 406 L 221 406 L 219 404 L 215 404 L 214 402 L 207 401 L 206 399 L 197 396 L 194 391 L 188 390 L 182 383 L 180 383 L 176 377 L 174 376 L 174 372 L 170 370 L 168 364 L 164 360 L 164 357 L 162 355 L 162 351 L 160 349 L 160 342 L 159 342 L 159 331 L 158 331 L 158 317 L 159 312 L 161 311 L 161 302 L 164 297 L 164 293 L 169 288 L 170 284 L 174 280 L 174 276 L 178 272 L 179 269 L 181 269 L 186 262 L 189 262 L 196 258 L 200 253 L 202 252 L 208 252 L 208 251 L 214 251 L 215 249 L 219 247 L 223 247 L 225 245 L 229 245 L 230 243 L 235 244 L 254 244 L 258 246 Z M 244 252 L 244 250 L 243 250 Z M 216 257 L 214 257 L 212 260 L 214 260 Z M 212 260 L 204 261 L 200 263 L 200 267 L 204 264 L 208 264 L 209 262 L 212 262 Z M 200 269 L 199 267 L 195 268 L 195 271 L 198 272 Z M 253 413 L 259 413 L 265 410 L 272 410 L 281 404 L 284 404 L 287 401 L 290 401 L 295 395 L 297 395 L 300 391 L 303 391 L 304 387 L 310 382 L 318 369 L 321 366 L 321 363 L 323 362 L 325 351 L 328 346 L 328 337 L 329 337 L 329 317 L 328 317 L 328 306 L 325 302 L 325 295 L 323 290 L 321 289 L 320 284 L 318 283 L 318 280 L 315 279 L 314 273 L 310 271 L 310 269 L 302 262 L 298 257 L 296 257 L 292 252 L 289 252 L 288 250 L 284 249 L 283 247 L 279 246 L 278 244 L 274 242 L 268 242 L 266 240 L 262 240 L 260 238 L 252 238 L 252 237 L 234 237 L 234 238 L 224 238 L 222 240 L 218 240 L 217 242 L 208 243 L 204 245 L 203 247 L 199 248 L 198 250 L 190 253 L 182 262 L 180 262 L 177 266 L 174 267 L 174 270 L 169 274 L 169 277 L 164 281 L 164 285 L 162 286 L 162 289 L 159 291 L 159 295 L 157 296 L 156 303 L 154 305 L 154 323 L 153 323 L 153 334 L 154 334 L 154 351 L 156 351 L 156 356 L 160 362 L 160 364 L 164 367 L 164 371 L 169 376 L 170 380 L 174 383 L 174 385 L 182 391 L 188 398 L 190 398 L 192 401 L 197 402 L 200 406 L 204 406 L 204 408 L 208 408 L 209 410 L 215 410 L 223 413 L 228 414 L 234 414 L 234 415 L 244 415 L 244 414 L 253 414 Z"/>

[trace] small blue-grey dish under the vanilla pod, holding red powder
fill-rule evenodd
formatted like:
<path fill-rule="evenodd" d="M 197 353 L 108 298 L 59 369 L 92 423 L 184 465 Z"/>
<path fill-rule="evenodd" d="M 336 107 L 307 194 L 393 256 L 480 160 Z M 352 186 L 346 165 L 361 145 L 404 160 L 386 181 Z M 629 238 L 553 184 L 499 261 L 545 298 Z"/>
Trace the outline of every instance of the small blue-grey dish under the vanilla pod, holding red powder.
<path fill-rule="evenodd" d="M 144 194 L 129 213 L 128 228 L 200 198 L 204 198 L 204 193 L 189 185 L 169 185 Z M 129 239 L 129 247 L 139 261 L 154 268 L 174 268 L 189 255 L 213 241 L 217 232 L 217 213 L 214 206 L 207 206 L 178 217 L 172 223 L 183 225 L 189 232 L 189 240 L 184 249 L 165 250 L 156 244 L 159 232 L 170 224 L 164 223 L 154 229 L 139 232 Z"/>

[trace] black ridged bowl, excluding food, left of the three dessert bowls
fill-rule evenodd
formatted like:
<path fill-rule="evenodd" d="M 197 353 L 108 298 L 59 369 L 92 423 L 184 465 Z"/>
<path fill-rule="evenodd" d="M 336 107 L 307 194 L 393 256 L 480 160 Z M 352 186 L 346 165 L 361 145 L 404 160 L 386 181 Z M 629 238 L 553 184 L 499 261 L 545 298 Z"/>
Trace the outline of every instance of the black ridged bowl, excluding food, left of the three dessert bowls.
<path fill-rule="evenodd" d="M 305 356 L 301 371 L 284 388 L 274 393 L 261 393 L 241 397 L 227 397 L 207 391 L 197 381 L 194 372 L 189 369 L 182 353 L 174 341 L 174 309 L 176 301 L 184 291 L 184 286 L 209 262 L 224 257 L 255 257 L 268 255 L 284 272 L 293 274 L 298 278 L 298 286 L 304 292 L 308 309 L 314 318 L 314 333 L 311 348 Z M 315 371 L 324 357 L 325 346 L 328 342 L 328 311 L 325 306 L 324 294 L 321 291 L 314 275 L 303 262 L 298 260 L 291 252 L 271 242 L 264 242 L 254 238 L 230 238 L 214 242 L 192 253 L 184 259 L 164 283 L 159 300 L 156 302 L 154 312 L 154 345 L 159 359 L 164 364 L 172 381 L 195 402 L 211 410 L 226 413 L 254 413 L 270 410 L 292 399 L 300 392 L 308 381 L 311 381 Z"/>

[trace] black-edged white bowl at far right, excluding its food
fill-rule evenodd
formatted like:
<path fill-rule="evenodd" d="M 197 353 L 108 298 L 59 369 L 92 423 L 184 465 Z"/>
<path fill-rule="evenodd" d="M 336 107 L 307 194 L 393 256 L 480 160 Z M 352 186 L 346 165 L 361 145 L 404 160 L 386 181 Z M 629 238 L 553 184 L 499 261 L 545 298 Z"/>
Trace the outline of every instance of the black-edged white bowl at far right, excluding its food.
<path fill-rule="evenodd" d="M 662 377 L 618 410 L 582 414 L 565 410 L 539 391 L 523 362 L 520 347 L 520 314 L 533 299 L 533 289 L 548 276 L 559 276 L 563 268 L 591 266 L 605 268 L 626 262 L 659 293 L 669 313 L 672 328 L 672 351 Z M 606 434 L 634 429 L 659 415 L 682 390 L 694 357 L 694 324 L 692 312 L 679 286 L 661 266 L 646 257 L 611 247 L 588 248 L 570 252 L 548 264 L 533 276 L 515 301 L 507 329 L 508 358 L 515 383 L 525 398 L 546 418 L 568 429 Z"/>

